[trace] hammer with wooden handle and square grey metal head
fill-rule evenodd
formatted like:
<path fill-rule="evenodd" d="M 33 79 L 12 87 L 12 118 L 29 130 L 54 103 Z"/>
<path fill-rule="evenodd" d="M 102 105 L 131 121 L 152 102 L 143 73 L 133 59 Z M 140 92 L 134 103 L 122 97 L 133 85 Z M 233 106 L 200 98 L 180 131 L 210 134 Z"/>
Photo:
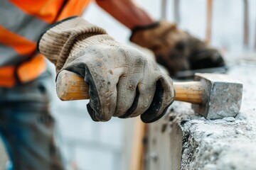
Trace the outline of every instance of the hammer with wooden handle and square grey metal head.
<path fill-rule="evenodd" d="M 89 84 L 83 77 L 66 70 L 57 77 L 57 95 L 62 101 L 89 99 Z M 206 119 L 235 117 L 242 102 L 242 83 L 226 74 L 199 74 L 194 81 L 174 82 L 175 100 L 192 103 Z"/>

